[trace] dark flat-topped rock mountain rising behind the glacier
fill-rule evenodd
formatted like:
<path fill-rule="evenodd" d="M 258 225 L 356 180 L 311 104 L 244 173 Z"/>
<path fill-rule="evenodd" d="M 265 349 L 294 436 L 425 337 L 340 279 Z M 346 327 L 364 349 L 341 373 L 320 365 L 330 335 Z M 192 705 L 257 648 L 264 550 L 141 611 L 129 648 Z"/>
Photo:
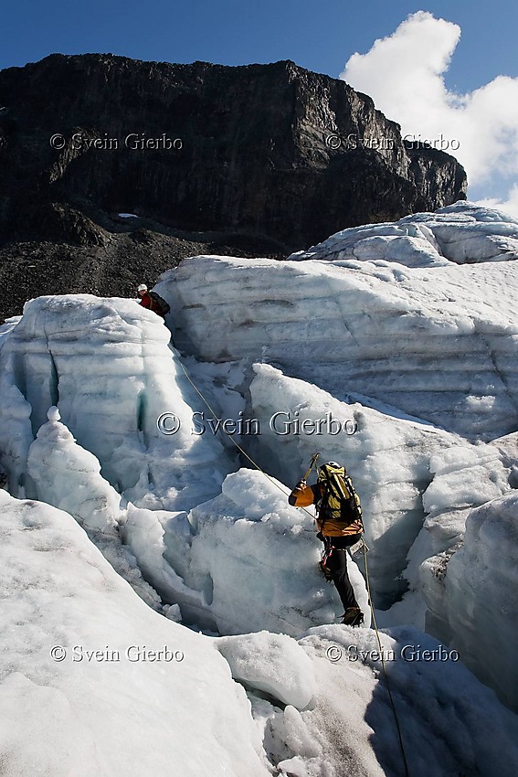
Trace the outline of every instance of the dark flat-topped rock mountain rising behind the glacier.
<path fill-rule="evenodd" d="M 230 248 L 244 241 L 235 253 L 257 255 L 259 239 L 263 254 L 284 254 L 448 205 L 466 188 L 453 157 L 404 144 L 399 126 L 342 80 L 290 61 L 230 68 L 112 55 L 52 55 L 0 72 L 0 180 L 2 274 L 18 243 L 27 266 L 38 266 L 35 250 L 53 256 L 61 244 L 101 263 L 117 255 L 121 266 L 127 250 L 131 264 L 129 236 L 143 225 L 152 260 L 154 239 L 167 254 L 185 230 L 217 232 Z M 118 212 L 147 221 L 122 225 Z M 163 269 L 171 264 L 165 256 Z"/>

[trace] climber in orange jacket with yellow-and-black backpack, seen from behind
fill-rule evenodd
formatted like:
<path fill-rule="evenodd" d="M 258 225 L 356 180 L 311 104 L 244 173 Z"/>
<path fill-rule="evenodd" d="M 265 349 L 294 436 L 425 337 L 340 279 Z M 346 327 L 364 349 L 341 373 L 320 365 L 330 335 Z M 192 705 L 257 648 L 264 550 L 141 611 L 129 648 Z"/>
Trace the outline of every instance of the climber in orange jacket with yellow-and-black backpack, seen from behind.
<path fill-rule="evenodd" d="M 326 578 L 333 580 L 344 604 L 342 623 L 359 626 L 364 622 L 363 612 L 354 596 L 354 589 L 347 573 L 347 548 L 362 538 L 364 525 L 360 499 L 354 491 L 345 467 L 328 462 L 320 467 L 318 481 L 308 485 L 299 481 L 288 497 L 291 505 L 317 509 L 317 537 L 322 539 L 324 553 L 321 568 Z M 344 510 L 342 505 L 349 507 Z"/>

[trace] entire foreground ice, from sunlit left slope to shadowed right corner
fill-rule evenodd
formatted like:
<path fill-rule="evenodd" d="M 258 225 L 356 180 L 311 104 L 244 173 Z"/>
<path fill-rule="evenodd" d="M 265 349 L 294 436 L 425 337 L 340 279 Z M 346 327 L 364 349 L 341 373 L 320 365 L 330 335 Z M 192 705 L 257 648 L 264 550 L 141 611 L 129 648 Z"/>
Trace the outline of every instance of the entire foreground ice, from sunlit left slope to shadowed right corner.
<path fill-rule="evenodd" d="M 372 630 L 206 637 L 143 604 L 67 513 L 0 503 L 5 777 L 401 772 Z M 380 636 L 411 773 L 512 777 L 518 723 L 493 692 L 460 662 L 405 660 L 439 650 L 425 634 Z"/>

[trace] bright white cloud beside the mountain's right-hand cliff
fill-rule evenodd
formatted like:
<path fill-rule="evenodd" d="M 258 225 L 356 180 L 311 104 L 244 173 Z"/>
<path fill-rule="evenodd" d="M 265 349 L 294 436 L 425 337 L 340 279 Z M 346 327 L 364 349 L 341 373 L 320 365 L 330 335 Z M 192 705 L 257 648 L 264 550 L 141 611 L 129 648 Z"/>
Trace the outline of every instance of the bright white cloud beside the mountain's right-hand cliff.
<path fill-rule="evenodd" d="M 518 176 L 518 79 L 498 76 L 467 94 L 448 90 L 444 73 L 459 39 L 458 25 L 418 11 L 367 54 L 354 54 L 340 77 L 369 94 L 376 108 L 401 124 L 403 135 L 437 148 L 442 137 L 442 150 L 459 159 L 480 190 L 494 176 Z M 517 188 L 504 203 L 514 216 Z M 501 207 L 499 200 L 492 203 Z"/>

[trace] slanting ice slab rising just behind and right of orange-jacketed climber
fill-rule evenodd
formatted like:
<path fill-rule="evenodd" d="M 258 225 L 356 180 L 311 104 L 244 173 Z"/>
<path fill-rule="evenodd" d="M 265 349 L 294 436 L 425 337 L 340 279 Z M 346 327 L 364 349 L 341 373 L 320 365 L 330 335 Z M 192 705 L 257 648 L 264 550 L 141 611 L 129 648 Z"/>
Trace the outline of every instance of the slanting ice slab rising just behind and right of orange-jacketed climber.
<path fill-rule="evenodd" d="M 407 554 L 423 525 L 435 538 L 443 527 L 439 513 L 481 505 L 511 487 L 511 469 L 491 445 L 470 445 L 429 424 L 390 415 L 386 407 L 382 412 L 359 402 L 341 402 L 269 365 L 256 364 L 253 371 L 249 414 L 259 421 L 260 434 L 247 438 L 248 450 L 291 484 L 315 451 L 321 453 L 321 463 L 345 464 L 362 500 L 377 606 L 386 606 L 405 590 L 402 575 L 417 584 L 417 562 L 414 559 L 408 574 Z M 334 426 L 326 418 L 333 419 Z M 310 433 L 304 433 L 306 419 L 315 424 L 324 420 L 322 433 L 319 427 L 315 433 L 312 425 L 306 427 Z M 337 432 L 340 425 L 342 431 Z M 312 474 L 310 482 L 314 479 Z M 448 540 L 440 544 L 438 537 L 435 547 L 425 544 L 418 564 L 452 544 L 444 531 Z M 463 525 L 458 534 L 462 531 Z"/>

